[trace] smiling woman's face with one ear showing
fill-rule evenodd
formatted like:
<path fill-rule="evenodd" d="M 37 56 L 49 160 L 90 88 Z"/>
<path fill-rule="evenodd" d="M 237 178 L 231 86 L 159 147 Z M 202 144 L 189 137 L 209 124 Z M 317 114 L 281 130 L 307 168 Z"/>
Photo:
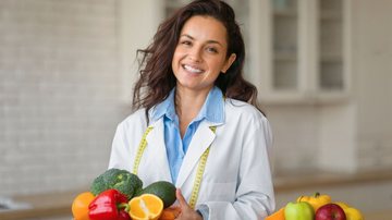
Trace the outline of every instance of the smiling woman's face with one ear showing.
<path fill-rule="evenodd" d="M 235 60 L 234 53 L 226 59 L 226 29 L 221 22 L 200 15 L 186 21 L 172 60 L 177 88 L 208 91 Z"/>

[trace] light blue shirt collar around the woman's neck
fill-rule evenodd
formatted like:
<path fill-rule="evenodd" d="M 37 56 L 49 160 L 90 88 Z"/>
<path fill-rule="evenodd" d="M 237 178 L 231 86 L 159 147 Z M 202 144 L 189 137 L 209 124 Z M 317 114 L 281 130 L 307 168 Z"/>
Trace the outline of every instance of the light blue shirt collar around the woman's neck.
<path fill-rule="evenodd" d="M 174 93 L 173 88 L 168 98 L 162 102 L 158 103 L 151 111 L 152 121 L 157 121 L 161 117 L 166 115 L 170 120 L 174 120 L 176 117 L 174 108 Z M 213 87 L 207 96 L 205 103 L 203 105 L 198 115 L 194 121 L 200 121 L 206 119 L 212 123 L 223 123 L 224 121 L 224 111 L 223 111 L 223 95 L 220 88 Z"/>

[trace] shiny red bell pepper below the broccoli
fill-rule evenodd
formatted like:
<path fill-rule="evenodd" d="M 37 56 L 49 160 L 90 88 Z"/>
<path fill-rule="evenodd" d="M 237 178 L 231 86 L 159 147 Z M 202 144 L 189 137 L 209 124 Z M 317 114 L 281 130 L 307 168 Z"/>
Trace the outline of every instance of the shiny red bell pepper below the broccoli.
<path fill-rule="evenodd" d="M 131 220 L 124 210 L 127 198 L 117 190 L 100 193 L 88 206 L 90 220 Z"/>

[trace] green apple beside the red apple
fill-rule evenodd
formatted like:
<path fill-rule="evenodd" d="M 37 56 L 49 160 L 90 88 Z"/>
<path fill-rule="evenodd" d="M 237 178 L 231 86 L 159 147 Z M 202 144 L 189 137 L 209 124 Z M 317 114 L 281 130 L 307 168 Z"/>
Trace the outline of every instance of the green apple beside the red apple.
<path fill-rule="evenodd" d="M 284 207 L 285 220 L 313 220 L 315 211 L 306 201 L 289 203 Z"/>

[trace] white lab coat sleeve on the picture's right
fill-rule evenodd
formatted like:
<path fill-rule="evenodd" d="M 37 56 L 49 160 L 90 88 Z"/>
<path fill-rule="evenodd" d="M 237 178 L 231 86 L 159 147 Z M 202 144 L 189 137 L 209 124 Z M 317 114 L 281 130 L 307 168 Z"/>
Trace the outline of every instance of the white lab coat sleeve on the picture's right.
<path fill-rule="evenodd" d="M 238 185 L 234 203 L 207 201 L 199 209 L 208 210 L 208 219 L 264 219 L 274 210 L 270 169 L 272 135 L 266 118 L 244 134 Z"/>

